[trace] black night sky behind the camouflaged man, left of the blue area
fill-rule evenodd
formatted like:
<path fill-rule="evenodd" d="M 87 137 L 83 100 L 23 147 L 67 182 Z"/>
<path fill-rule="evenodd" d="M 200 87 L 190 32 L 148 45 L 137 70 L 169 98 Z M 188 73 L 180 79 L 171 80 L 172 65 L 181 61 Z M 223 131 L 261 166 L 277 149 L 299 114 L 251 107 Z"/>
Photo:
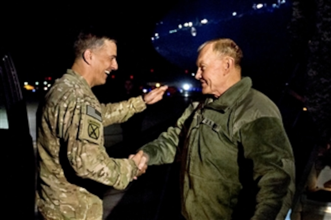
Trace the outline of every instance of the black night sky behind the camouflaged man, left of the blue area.
<path fill-rule="evenodd" d="M 81 28 L 93 26 L 116 37 L 116 75 L 168 65 L 153 48 L 155 23 L 177 1 L 93 1 L 1 3 L 1 51 L 10 52 L 21 80 L 60 77 L 72 64 L 72 42 Z"/>

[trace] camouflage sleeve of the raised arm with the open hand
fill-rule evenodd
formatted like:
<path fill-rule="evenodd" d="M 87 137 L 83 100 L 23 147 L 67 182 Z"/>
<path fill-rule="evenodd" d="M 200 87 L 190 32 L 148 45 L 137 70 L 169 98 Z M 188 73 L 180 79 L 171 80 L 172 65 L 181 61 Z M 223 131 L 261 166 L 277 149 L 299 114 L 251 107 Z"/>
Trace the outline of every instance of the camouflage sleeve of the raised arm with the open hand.
<path fill-rule="evenodd" d="M 146 104 L 142 96 L 130 98 L 118 103 L 101 104 L 103 125 L 109 126 L 115 123 L 127 121 L 134 113 L 142 112 Z"/>

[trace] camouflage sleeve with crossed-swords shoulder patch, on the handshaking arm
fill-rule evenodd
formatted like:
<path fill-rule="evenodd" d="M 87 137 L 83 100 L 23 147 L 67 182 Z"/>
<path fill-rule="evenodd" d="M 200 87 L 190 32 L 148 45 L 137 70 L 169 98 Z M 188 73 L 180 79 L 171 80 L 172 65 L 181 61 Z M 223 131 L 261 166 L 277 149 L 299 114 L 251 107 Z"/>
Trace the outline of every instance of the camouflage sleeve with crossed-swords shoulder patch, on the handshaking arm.
<path fill-rule="evenodd" d="M 98 111 L 76 100 L 61 103 L 56 109 L 53 115 L 57 125 L 53 129 L 59 135 L 61 148 L 67 148 L 67 158 L 76 175 L 124 189 L 138 169 L 133 160 L 108 156 L 103 146 L 103 125 L 101 117 L 97 117 Z"/>

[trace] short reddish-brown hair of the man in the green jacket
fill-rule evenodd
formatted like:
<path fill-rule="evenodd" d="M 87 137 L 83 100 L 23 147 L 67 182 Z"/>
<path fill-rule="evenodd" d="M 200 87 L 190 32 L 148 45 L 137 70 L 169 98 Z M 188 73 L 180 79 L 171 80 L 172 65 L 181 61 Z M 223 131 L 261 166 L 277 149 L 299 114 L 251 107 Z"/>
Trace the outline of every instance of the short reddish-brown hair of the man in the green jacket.
<path fill-rule="evenodd" d="M 202 50 L 207 44 L 213 44 L 213 51 L 219 55 L 231 56 L 234 59 L 235 65 L 240 66 L 243 52 L 240 47 L 229 38 L 218 38 L 203 43 L 198 52 Z"/>

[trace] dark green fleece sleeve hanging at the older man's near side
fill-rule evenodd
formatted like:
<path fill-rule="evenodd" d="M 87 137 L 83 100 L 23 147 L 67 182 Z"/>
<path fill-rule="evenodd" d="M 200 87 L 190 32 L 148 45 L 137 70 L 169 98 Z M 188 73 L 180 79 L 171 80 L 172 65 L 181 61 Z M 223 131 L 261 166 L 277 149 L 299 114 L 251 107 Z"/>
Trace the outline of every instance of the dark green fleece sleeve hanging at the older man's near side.
<path fill-rule="evenodd" d="M 258 185 L 252 219 L 284 219 L 295 188 L 292 147 L 281 119 L 263 117 L 240 128 L 244 156 Z"/>

